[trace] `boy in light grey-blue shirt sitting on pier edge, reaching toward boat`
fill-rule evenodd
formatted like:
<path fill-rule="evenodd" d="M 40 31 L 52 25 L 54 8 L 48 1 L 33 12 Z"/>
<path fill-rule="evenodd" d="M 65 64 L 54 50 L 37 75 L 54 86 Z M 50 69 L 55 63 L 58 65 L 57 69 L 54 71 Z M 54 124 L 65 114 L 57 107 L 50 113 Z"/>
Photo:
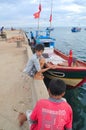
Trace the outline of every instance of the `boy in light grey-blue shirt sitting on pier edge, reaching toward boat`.
<path fill-rule="evenodd" d="M 49 65 L 46 68 L 43 68 L 45 65 L 45 58 L 42 56 L 43 51 L 44 46 L 42 44 L 37 44 L 35 46 L 35 53 L 30 58 L 23 71 L 35 79 L 43 79 L 42 73 L 54 67 L 53 65 Z"/>

